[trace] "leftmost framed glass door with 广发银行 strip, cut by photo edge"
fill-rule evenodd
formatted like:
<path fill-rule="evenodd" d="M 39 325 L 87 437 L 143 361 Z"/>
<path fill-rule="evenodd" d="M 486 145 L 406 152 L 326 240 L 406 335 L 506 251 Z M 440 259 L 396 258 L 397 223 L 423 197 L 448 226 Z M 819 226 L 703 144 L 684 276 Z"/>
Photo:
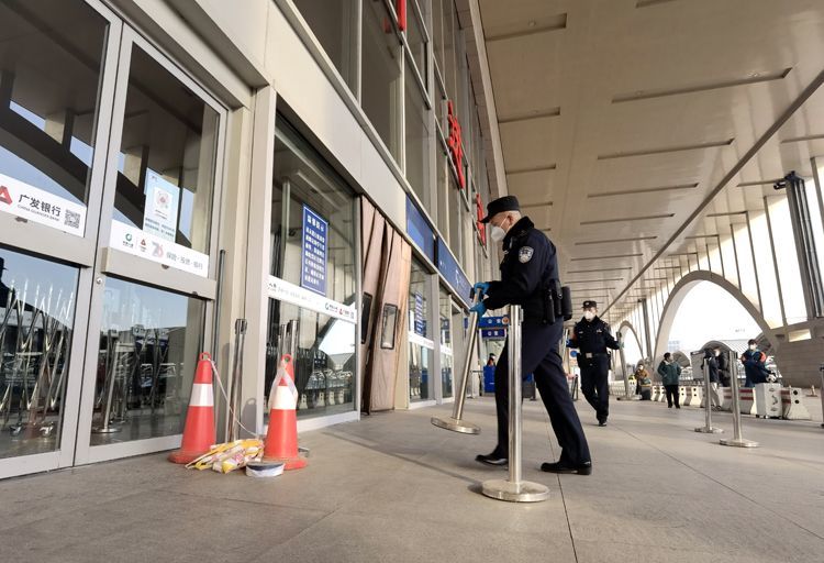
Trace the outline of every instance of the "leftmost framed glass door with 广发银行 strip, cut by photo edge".
<path fill-rule="evenodd" d="M 74 463 L 121 30 L 0 2 L 0 478 Z"/>

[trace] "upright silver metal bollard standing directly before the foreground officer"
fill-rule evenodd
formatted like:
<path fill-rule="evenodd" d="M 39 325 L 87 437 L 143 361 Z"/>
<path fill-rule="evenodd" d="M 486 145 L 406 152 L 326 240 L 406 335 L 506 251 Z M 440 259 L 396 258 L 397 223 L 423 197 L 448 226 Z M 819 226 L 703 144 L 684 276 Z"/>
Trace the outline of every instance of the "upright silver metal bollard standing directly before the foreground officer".
<path fill-rule="evenodd" d="M 483 482 L 483 495 L 509 503 L 537 503 L 549 498 L 549 489 L 539 483 L 521 481 L 521 307 L 510 306 L 510 332 L 506 339 L 510 367 L 510 467 L 509 479 Z"/>

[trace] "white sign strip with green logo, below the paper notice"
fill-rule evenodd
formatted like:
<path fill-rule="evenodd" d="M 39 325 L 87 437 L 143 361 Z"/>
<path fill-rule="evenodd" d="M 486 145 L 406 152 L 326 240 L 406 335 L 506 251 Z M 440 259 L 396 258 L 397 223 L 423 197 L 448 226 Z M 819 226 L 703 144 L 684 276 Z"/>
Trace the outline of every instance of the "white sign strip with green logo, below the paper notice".
<path fill-rule="evenodd" d="M 120 221 L 112 221 L 109 246 L 201 277 L 209 276 L 208 255 Z"/>

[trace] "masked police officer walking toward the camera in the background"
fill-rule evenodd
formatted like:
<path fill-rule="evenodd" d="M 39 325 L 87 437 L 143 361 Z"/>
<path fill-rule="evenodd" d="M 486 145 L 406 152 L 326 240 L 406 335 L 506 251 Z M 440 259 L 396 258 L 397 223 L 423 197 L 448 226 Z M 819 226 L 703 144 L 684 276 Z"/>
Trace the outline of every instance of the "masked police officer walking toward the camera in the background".
<path fill-rule="evenodd" d="M 610 416 L 610 389 L 606 376 L 610 373 L 608 347 L 617 350 L 620 344 L 610 332 L 610 325 L 598 318 L 598 303 L 583 301 L 583 318 L 572 329 L 569 347 L 578 349 L 578 366 L 581 368 L 581 393 L 595 409 L 598 426 L 606 426 Z"/>

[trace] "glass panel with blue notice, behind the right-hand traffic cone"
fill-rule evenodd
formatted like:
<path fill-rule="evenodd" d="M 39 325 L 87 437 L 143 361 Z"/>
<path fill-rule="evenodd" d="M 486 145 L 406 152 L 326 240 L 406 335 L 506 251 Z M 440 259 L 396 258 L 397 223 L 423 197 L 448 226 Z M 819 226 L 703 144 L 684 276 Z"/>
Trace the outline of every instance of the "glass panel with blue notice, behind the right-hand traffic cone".
<path fill-rule="evenodd" d="M 280 358 L 290 354 L 299 418 L 352 411 L 355 200 L 344 180 L 280 119 L 271 206 L 265 400 Z"/>

